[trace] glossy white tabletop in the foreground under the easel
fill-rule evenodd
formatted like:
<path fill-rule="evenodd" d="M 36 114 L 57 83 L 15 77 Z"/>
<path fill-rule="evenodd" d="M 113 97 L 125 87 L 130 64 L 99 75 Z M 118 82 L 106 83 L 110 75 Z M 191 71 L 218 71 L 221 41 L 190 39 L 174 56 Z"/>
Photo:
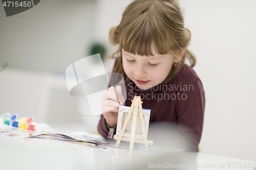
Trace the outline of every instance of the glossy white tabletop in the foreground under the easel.
<path fill-rule="evenodd" d="M 150 150 L 145 153 L 141 148 L 131 154 L 125 149 L 97 149 L 51 139 L 11 141 L 0 138 L 0 169 L 159 169 L 157 166 L 161 165 L 163 169 L 256 168 L 256 162 L 236 158 L 204 153 L 160 153 L 156 152 L 157 148 Z M 254 165 L 254 168 L 248 165 Z"/>

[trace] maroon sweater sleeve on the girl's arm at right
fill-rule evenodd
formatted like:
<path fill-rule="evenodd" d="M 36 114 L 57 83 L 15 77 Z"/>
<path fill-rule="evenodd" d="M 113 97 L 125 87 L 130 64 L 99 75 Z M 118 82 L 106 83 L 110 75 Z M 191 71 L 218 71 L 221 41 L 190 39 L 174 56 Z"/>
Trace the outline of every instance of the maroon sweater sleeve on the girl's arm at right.
<path fill-rule="evenodd" d="M 202 135 L 204 118 L 204 90 L 201 81 L 195 78 L 177 91 L 177 123 L 192 150 L 197 151 Z M 187 88 L 185 88 L 187 87 Z"/>

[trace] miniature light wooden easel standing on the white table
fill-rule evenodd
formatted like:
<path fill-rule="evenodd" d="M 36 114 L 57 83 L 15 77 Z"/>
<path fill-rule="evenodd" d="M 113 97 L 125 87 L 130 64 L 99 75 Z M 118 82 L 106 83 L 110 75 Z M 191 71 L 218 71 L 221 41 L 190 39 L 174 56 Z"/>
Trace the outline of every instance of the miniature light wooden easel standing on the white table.
<path fill-rule="evenodd" d="M 133 103 L 132 103 L 131 108 L 130 108 L 128 114 L 127 114 L 127 117 L 126 117 L 125 121 L 124 121 L 124 124 L 123 124 L 123 127 L 121 129 L 120 135 L 119 136 L 117 136 L 117 135 L 114 136 L 114 139 L 117 139 L 115 147 L 118 148 L 118 145 L 119 145 L 121 140 L 130 141 L 130 152 L 133 152 L 134 142 L 144 144 L 145 145 L 145 150 L 146 150 L 146 152 L 148 152 L 148 144 L 153 145 L 153 141 L 152 140 L 147 140 L 144 117 L 143 117 L 143 111 L 142 111 L 142 105 L 141 105 L 142 102 L 141 102 L 140 96 L 135 95 L 134 100 L 132 102 Z M 140 115 L 140 122 L 141 122 L 143 140 L 142 139 L 134 139 L 138 108 L 139 108 L 139 115 Z M 133 112 L 133 109 L 134 109 L 134 112 Z M 124 131 L 126 129 L 126 126 L 129 122 L 129 119 L 132 115 L 132 112 L 133 112 L 133 124 L 132 124 L 131 138 L 123 137 L 123 133 L 124 133 Z"/>

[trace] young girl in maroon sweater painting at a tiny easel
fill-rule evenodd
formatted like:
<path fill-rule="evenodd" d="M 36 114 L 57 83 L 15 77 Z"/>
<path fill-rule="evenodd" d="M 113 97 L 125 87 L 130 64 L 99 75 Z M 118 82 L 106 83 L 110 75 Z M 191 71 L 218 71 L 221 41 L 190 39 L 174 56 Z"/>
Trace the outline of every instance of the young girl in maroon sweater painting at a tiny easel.
<path fill-rule="evenodd" d="M 116 90 L 125 106 L 140 95 L 142 107 L 151 109 L 150 123 L 183 125 L 193 150 L 202 134 L 204 90 L 196 72 L 196 59 L 189 52 L 190 32 L 184 28 L 180 7 L 175 1 L 135 0 L 123 12 L 119 26 L 110 30 L 110 42 L 119 45 L 110 57 L 116 58 L 113 72 L 123 75 L 127 100 L 121 87 Z M 188 60 L 190 66 L 184 62 Z M 117 125 L 119 101 L 114 87 L 105 92 L 99 133 L 107 137 Z"/>

